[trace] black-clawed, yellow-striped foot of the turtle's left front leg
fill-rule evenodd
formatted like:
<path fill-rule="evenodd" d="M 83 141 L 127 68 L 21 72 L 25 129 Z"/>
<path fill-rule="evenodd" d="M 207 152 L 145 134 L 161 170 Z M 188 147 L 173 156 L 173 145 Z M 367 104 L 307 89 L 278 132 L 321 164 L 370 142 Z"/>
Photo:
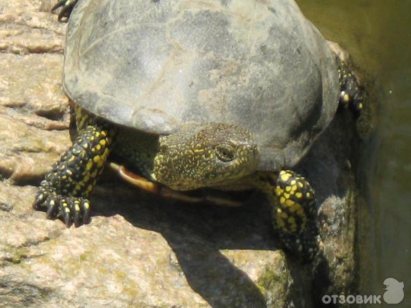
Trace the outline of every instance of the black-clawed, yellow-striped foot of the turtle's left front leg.
<path fill-rule="evenodd" d="M 62 196 L 43 181 L 33 203 L 34 209 L 45 209 L 47 219 L 60 218 L 66 227 L 90 222 L 90 201 L 83 197 Z"/>

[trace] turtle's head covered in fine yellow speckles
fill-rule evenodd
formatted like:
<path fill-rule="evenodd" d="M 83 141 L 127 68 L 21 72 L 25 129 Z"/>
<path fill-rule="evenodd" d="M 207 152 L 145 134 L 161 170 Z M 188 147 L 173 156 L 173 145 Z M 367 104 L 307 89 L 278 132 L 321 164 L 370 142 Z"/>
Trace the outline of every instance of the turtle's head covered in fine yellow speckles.
<path fill-rule="evenodd" d="M 237 125 L 185 125 L 160 138 L 153 178 L 176 190 L 225 185 L 256 171 L 259 153 L 252 133 Z"/>

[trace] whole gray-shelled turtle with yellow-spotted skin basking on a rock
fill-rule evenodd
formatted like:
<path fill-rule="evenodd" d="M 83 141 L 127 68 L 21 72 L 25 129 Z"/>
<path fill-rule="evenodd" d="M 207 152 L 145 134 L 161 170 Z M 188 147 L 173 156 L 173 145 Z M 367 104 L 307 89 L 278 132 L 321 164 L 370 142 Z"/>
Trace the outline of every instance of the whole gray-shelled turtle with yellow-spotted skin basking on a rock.
<path fill-rule="evenodd" d="M 67 227 L 87 224 L 110 156 L 129 181 L 173 196 L 258 190 L 284 249 L 318 253 L 315 192 L 292 168 L 339 101 L 360 106 L 362 96 L 294 1 L 61 0 L 58 8 L 69 23 L 63 89 L 73 145 L 41 181 L 34 209 Z"/>

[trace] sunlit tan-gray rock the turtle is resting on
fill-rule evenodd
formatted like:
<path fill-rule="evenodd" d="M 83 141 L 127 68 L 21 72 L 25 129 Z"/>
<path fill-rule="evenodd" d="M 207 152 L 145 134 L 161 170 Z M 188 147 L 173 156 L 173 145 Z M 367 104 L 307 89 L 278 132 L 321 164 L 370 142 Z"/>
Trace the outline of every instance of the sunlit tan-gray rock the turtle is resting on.
<path fill-rule="evenodd" d="M 53 1 L 0 0 L 0 307 L 316 307 L 354 284 L 351 115 L 299 171 L 319 198 L 324 259 L 288 259 L 256 196 L 245 207 L 164 201 L 105 175 L 92 222 L 66 229 L 31 208 L 70 145 L 61 89 L 65 25 Z"/>

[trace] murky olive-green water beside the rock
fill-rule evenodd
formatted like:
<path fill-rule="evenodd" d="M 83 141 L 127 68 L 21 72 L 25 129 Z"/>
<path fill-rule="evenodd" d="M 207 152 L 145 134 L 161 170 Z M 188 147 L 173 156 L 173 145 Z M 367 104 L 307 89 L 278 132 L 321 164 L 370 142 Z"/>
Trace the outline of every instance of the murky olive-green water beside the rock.
<path fill-rule="evenodd" d="M 406 295 L 397 307 L 411 307 L 411 1 L 297 3 L 374 85 L 377 123 L 358 172 L 366 199 L 359 209 L 358 284 L 360 294 L 383 294 L 387 277 L 403 281 Z M 362 215 L 371 223 L 362 224 Z"/>

